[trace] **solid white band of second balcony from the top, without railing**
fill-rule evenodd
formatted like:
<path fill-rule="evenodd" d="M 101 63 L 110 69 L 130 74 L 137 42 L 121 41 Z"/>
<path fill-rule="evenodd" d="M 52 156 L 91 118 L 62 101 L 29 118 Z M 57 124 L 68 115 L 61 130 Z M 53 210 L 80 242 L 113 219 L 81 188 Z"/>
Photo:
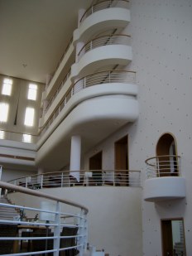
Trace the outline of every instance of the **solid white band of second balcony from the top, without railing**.
<path fill-rule="evenodd" d="M 71 66 L 71 77 L 87 75 L 101 66 L 127 65 L 132 60 L 132 47 L 124 45 L 99 46 L 88 51 Z"/>

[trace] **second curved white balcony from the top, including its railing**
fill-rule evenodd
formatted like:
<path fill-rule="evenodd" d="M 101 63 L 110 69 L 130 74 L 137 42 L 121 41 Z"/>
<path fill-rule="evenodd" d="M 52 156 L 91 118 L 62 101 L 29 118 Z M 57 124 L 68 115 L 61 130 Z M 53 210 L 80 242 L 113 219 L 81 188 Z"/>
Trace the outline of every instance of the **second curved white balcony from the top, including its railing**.
<path fill-rule="evenodd" d="M 106 65 L 127 65 L 132 60 L 128 35 L 99 36 L 89 41 L 78 54 L 78 62 L 71 67 L 72 77 L 86 75 Z"/>

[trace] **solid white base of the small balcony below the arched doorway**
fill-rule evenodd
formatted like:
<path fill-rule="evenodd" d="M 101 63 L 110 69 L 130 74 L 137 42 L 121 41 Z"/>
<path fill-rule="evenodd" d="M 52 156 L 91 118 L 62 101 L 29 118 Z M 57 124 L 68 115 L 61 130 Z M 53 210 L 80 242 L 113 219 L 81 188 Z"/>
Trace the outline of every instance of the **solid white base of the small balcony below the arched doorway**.
<path fill-rule="evenodd" d="M 185 178 L 163 176 L 144 181 L 143 198 L 149 202 L 183 199 L 186 196 Z"/>

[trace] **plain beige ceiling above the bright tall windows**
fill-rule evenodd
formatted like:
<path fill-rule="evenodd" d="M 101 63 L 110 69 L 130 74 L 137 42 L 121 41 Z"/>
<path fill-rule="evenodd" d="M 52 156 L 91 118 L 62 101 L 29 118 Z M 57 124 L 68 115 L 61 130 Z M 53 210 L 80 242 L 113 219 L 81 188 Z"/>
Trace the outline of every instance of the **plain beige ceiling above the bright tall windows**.
<path fill-rule="evenodd" d="M 46 83 L 92 0 L 0 0 L 0 74 Z"/>

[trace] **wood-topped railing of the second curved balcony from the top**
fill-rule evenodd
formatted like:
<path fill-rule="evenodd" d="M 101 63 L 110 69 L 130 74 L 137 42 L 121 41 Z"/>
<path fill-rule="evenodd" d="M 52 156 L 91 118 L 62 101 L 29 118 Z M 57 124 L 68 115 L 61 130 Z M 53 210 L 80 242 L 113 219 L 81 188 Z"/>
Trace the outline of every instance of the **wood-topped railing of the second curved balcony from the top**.
<path fill-rule="evenodd" d="M 78 61 L 84 54 L 88 51 L 93 50 L 99 46 L 108 46 L 108 45 L 125 45 L 128 46 L 130 44 L 130 37 L 129 35 L 105 35 L 105 36 L 98 36 L 93 40 L 87 42 L 79 51 L 78 54 Z"/>

